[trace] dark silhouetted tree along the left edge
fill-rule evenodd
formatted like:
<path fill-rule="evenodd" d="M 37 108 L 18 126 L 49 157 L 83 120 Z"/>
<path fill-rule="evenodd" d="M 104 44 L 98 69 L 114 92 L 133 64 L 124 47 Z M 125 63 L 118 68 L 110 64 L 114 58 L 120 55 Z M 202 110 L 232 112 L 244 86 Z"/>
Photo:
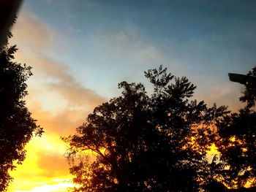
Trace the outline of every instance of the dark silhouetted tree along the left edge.
<path fill-rule="evenodd" d="M 8 39 L 0 47 L 0 191 L 7 190 L 9 171 L 24 160 L 24 147 L 33 134 L 42 134 L 23 100 L 31 67 L 12 61 L 17 48 L 9 47 Z"/>

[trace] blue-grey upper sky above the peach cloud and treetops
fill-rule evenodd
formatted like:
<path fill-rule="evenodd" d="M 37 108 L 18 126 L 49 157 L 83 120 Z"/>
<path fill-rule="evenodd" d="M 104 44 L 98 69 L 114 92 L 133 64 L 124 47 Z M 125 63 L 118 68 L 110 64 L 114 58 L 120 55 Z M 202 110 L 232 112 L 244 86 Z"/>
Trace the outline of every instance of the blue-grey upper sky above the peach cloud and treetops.
<path fill-rule="evenodd" d="M 56 33 L 48 57 L 79 82 L 113 96 L 117 82 L 142 81 L 163 64 L 198 91 L 246 73 L 256 61 L 255 1 L 25 1 Z M 58 46 L 61 45 L 61 46 Z M 241 88 L 238 88 L 241 91 Z M 211 91 L 210 91 L 211 92 Z"/>

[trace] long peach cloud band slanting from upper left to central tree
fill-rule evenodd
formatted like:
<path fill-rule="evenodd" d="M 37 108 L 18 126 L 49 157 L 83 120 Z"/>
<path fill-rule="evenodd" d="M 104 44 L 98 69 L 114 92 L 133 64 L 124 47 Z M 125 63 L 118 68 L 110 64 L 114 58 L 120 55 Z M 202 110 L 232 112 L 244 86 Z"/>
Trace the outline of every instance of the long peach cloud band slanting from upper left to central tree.
<path fill-rule="evenodd" d="M 95 107 L 105 101 L 105 98 L 75 80 L 67 64 L 46 55 L 52 48 L 53 37 L 56 37 L 53 29 L 45 26 L 31 13 L 22 12 L 12 31 L 12 41 L 20 48 L 16 60 L 33 67 L 34 77 L 31 78 L 34 82 L 29 81 L 29 88 L 41 93 L 58 93 L 69 107 Z M 42 87 L 37 88 L 35 82 L 37 85 L 40 82 L 38 86 Z"/>

